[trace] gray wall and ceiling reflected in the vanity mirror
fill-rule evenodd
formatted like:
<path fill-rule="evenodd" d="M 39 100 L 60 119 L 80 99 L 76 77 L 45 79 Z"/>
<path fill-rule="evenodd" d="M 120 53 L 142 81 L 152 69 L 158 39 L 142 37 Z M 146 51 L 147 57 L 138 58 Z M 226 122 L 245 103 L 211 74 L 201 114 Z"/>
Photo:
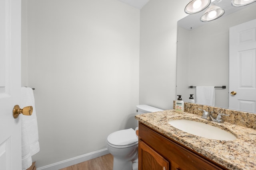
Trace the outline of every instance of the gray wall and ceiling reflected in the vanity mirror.
<path fill-rule="evenodd" d="M 178 21 L 176 94 L 188 102 L 196 94 L 189 86 L 226 86 L 215 89 L 215 106 L 229 108 L 229 28 L 256 19 L 256 3 L 235 8 L 222 0 L 216 5 L 225 10 L 217 20 L 201 22 L 203 11 Z"/>

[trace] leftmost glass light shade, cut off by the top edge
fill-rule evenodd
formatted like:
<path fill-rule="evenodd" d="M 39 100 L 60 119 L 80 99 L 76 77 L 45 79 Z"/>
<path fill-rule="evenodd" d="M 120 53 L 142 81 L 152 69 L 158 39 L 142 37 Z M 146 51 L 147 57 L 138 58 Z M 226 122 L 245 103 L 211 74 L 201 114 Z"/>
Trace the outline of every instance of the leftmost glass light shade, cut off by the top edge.
<path fill-rule="evenodd" d="M 211 0 L 190 0 L 185 7 L 186 14 L 196 14 L 206 9 L 211 4 Z"/>

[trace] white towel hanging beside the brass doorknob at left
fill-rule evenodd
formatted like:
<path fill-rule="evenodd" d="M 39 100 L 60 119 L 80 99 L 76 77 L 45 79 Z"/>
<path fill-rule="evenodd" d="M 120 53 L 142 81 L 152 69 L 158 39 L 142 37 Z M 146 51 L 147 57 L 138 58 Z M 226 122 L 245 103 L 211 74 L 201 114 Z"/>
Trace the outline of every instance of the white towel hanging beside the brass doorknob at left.
<path fill-rule="evenodd" d="M 21 88 L 22 101 L 20 108 L 32 106 L 32 115 L 20 115 L 21 117 L 21 144 L 22 144 L 22 170 L 28 169 L 32 165 L 31 156 L 39 152 L 38 127 L 36 119 L 35 100 L 32 88 Z"/>

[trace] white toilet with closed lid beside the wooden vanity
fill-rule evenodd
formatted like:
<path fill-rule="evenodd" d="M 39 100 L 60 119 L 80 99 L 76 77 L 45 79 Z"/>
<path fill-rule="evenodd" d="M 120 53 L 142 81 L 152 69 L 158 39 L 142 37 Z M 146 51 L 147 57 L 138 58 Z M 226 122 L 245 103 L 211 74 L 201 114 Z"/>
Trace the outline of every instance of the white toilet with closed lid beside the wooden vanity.
<path fill-rule="evenodd" d="M 163 111 L 148 105 L 138 105 L 136 109 L 138 114 Z M 113 170 L 138 170 L 138 137 L 134 129 L 113 132 L 106 143 L 114 156 Z"/>

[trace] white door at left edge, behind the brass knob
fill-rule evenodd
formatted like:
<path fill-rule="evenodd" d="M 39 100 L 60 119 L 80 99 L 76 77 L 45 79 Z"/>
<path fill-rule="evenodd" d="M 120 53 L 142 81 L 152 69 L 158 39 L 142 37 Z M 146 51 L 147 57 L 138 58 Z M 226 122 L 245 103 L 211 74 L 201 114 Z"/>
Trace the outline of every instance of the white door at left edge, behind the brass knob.
<path fill-rule="evenodd" d="M 0 0 L 0 170 L 21 170 L 20 27 L 21 0 Z"/>

